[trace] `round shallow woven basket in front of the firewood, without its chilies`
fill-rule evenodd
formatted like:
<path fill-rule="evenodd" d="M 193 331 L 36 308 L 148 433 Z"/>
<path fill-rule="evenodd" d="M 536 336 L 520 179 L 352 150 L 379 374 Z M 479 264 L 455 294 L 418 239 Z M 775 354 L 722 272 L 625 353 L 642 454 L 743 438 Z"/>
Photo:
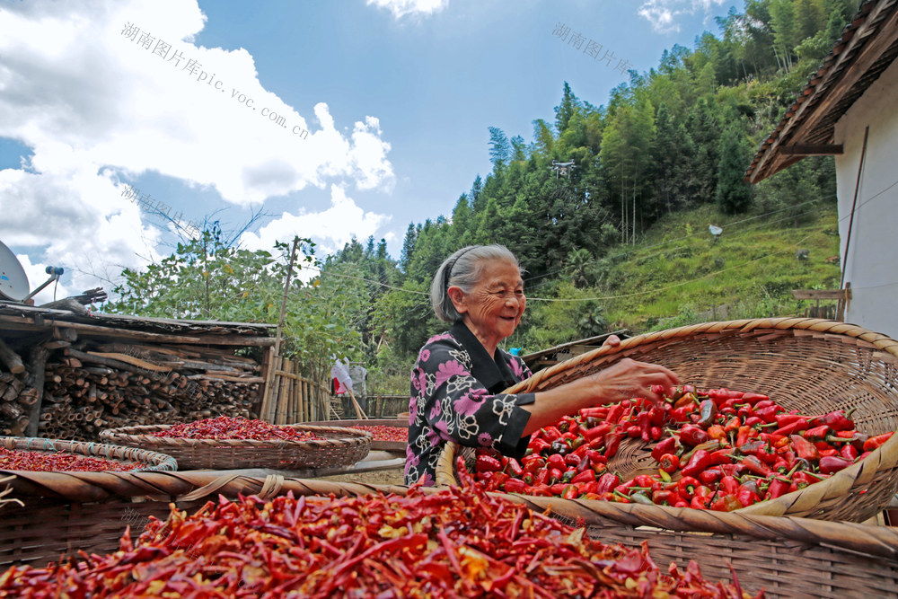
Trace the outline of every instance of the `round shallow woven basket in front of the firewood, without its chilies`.
<path fill-rule="evenodd" d="M 172 455 L 181 470 L 207 468 L 271 468 L 297 470 L 354 464 L 368 454 L 371 433 L 354 428 L 286 425 L 314 433 L 321 439 L 256 441 L 253 439 L 181 439 L 154 436 L 171 425 L 110 428 L 100 438 L 118 445 L 140 447 Z"/>

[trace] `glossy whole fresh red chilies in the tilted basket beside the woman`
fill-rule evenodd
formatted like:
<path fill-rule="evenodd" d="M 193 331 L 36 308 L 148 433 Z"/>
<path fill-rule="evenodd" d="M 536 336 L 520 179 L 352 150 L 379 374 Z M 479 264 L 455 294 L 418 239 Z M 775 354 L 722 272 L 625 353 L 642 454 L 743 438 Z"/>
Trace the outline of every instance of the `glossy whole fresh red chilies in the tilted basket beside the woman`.
<path fill-rule="evenodd" d="M 788 411 L 762 393 L 684 385 L 653 406 L 643 398 L 580 410 L 541 428 L 521 460 L 479 450 L 487 490 L 731 511 L 824 480 L 894 433 L 867 436 L 848 413 Z M 657 474 L 608 470 L 621 441 L 657 442 Z"/>

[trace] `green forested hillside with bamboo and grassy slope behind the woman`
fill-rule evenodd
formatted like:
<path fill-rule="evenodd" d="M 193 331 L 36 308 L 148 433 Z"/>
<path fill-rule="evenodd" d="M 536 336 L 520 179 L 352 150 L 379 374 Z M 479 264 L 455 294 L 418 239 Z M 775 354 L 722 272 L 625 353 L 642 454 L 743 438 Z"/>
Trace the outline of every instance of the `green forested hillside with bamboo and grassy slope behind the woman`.
<path fill-rule="evenodd" d="M 471 243 L 504 243 L 526 269 L 533 299 L 509 341 L 527 350 L 618 326 L 706 320 L 702 312 L 722 304 L 742 316 L 794 312 L 790 288 L 838 281 L 832 158 L 806 159 L 756 187 L 744 171 L 857 7 L 746 0 L 742 12 L 718 19 L 716 35 L 670 48 L 647 73 L 630 71 L 605 100 L 564 84 L 554 115 L 535 119 L 532 132 L 489 128 L 492 171 L 473 177 L 451 214 L 409 224 L 399 260 L 383 240 L 353 241 L 323 260 L 311 284 L 295 283 L 290 305 L 303 316 L 289 326 L 305 332 L 287 347 L 306 356 L 346 351 L 378 365 L 379 391 L 407 391 L 387 382 L 392 374 L 407 381 L 410 360 L 441 330 L 427 303 L 430 278 Z M 575 168 L 560 176 L 553 161 Z M 712 224 L 724 229 L 719 241 Z M 225 261 L 235 252 L 207 235 L 177 260 L 208 251 Z M 252 260 L 268 268 L 274 259 L 242 260 L 248 272 Z M 118 308 L 159 312 L 168 284 L 147 294 L 138 273 L 130 277 Z M 277 320 L 277 288 L 265 285 L 245 296 L 256 304 L 242 318 Z M 191 305 L 185 314 L 220 316 Z M 310 345 L 323 343 L 310 327 L 339 343 Z"/>

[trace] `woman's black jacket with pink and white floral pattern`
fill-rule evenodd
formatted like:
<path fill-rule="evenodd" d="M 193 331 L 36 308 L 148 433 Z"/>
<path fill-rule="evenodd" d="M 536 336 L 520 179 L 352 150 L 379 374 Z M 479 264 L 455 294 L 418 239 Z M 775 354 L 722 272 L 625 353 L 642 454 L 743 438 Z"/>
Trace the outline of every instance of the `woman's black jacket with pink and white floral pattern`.
<path fill-rule="evenodd" d="M 436 461 L 447 441 L 522 457 L 530 413 L 520 406 L 535 398 L 501 391 L 531 375 L 524 360 L 502 349 L 490 357 L 462 322 L 428 339 L 411 371 L 406 484 L 436 482 Z"/>

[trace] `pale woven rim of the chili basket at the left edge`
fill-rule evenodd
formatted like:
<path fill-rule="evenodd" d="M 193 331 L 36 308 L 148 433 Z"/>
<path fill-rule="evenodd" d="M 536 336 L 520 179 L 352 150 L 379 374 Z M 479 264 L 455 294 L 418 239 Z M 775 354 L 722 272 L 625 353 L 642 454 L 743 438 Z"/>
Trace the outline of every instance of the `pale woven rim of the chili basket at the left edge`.
<path fill-rule="evenodd" d="M 12 445 L 12 447 L 10 446 Z M 40 436 L 0 436 L 0 446 L 7 449 L 17 449 L 30 452 L 67 453 L 84 455 L 87 457 L 100 457 L 111 462 L 126 464 L 145 463 L 144 468 L 135 468 L 128 472 L 152 472 L 152 471 L 177 471 L 178 462 L 171 455 L 155 452 L 149 449 L 128 447 L 109 443 L 94 443 L 92 441 L 67 441 L 63 439 L 48 439 Z M 117 456 L 116 453 L 125 455 Z M 31 472 L 4 470 L 4 472 Z M 52 471 L 48 473 L 67 474 L 68 472 L 86 472 L 104 474 L 107 471 Z"/>

